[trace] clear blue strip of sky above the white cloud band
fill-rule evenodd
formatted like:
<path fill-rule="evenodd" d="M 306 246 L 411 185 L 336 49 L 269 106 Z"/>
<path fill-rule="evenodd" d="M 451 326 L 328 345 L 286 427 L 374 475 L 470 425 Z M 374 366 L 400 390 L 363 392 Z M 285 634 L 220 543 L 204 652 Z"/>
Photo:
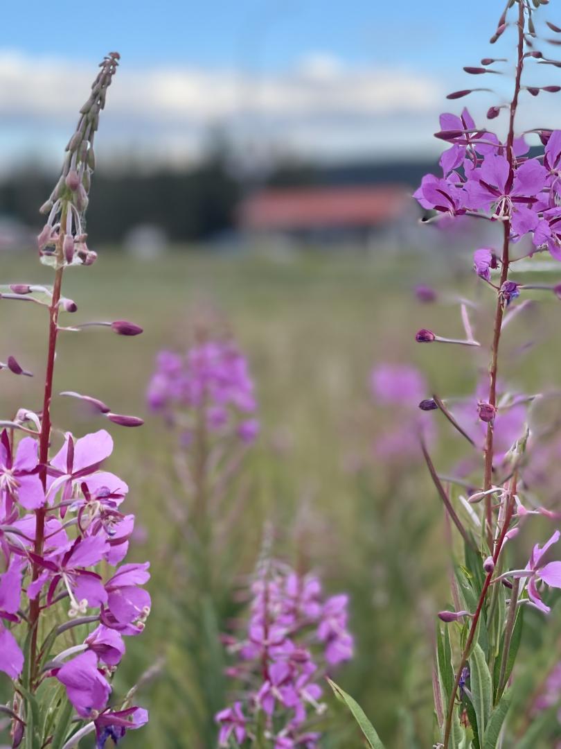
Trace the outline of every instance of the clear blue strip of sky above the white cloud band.
<path fill-rule="evenodd" d="M 390 61 L 438 71 L 451 58 L 467 64 L 474 43 L 485 46 L 502 5 L 471 0 L 460 10 L 450 0 L 116 0 L 104 10 L 101 3 L 26 0 L 4 4 L 2 26 L 4 45 L 32 55 L 96 59 L 111 48 L 127 64 L 282 70 L 319 50 L 348 64 Z"/>

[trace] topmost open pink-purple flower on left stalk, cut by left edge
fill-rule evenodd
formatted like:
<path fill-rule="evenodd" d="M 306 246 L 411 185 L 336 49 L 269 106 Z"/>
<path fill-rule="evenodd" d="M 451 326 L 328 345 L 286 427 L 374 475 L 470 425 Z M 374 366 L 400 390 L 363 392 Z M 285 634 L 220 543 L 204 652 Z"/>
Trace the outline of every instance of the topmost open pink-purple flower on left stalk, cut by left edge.
<path fill-rule="evenodd" d="M 0 437 L 0 491 L 4 497 L 18 502 L 25 509 L 43 506 L 45 493 L 38 476 L 37 440 L 24 437 L 13 457 L 10 440 L 4 429 Z"/>

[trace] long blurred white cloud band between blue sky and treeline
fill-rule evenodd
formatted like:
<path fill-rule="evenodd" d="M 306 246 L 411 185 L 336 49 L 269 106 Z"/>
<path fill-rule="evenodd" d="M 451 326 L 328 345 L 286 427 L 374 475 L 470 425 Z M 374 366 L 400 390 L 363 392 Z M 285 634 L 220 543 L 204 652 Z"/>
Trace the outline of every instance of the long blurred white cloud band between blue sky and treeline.
<path fill-rule="evenodd" d="M 71 134 L 94 73 L 90 65 L 62 58 L 0 52 L 1 160 L 6 163 L 7 151 L 58 158 L 55 145 Z M 399 144 L 396 136 L 405 136 L 405 123 L 434 116 L 441 100 L 442 84 L 432 76 L 351 67 L 321 52 L 281 73 L 123 64 L 108 94 L 100 139 L 108 151 L 152 153 L 176 163 L 197 154 L 212 125 L 238 142 L 311 157 L 411 151 L 415 142 Z"/>

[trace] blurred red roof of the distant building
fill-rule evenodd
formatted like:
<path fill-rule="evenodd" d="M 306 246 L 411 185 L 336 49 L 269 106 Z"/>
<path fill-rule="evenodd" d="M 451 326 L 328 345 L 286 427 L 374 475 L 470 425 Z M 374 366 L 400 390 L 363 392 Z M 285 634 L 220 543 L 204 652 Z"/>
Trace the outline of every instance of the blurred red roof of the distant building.
<path fill-rule="evenodd" d="M 246 198 L 238 215 L 254 231 L 376 226 L 396 219 L 410 200 L 397 185 L 272 188 Z"/>

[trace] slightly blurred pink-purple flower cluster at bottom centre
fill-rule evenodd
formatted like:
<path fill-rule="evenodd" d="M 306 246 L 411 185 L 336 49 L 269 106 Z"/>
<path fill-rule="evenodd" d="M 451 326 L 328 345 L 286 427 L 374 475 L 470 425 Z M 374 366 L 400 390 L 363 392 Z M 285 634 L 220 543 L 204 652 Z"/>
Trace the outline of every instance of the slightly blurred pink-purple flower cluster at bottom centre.
<path fill-rule="evenodd" d="M 246 636 L 227 638 L 239 657 L 228 673 L 248 691 L 216 715 L 220 745 L 228 746 L 230 736 L 240 746 L 260 736 L 275 749 L 315 749 L 320 734 L 307 724 L 310 714 L 325 710 L 319 679 L 352 658 L 348 597 L 324 599 L 315 575 L 299 575 L 278 562 L 263 565 L 252 593 Z"/>

